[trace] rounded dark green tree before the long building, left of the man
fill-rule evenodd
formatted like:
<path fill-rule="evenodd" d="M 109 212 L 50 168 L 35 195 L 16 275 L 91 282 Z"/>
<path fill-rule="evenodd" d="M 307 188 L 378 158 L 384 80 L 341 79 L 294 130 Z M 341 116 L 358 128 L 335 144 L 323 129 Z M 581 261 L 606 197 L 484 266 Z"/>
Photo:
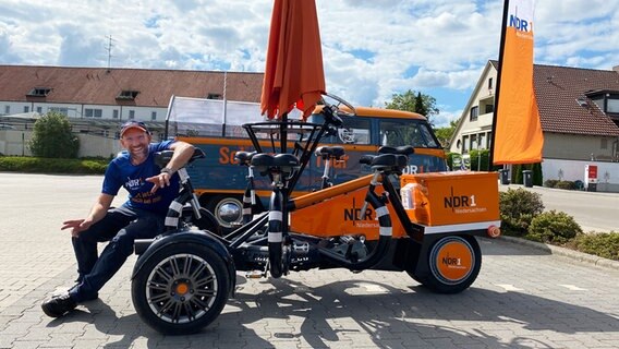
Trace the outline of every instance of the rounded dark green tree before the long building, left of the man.
<path fill-rule="evenodd" d="M 29 147 L 37 157 L 76 158 L 80 140 L 71 132 L 66 117 L 51 111 L 35 122 Z"/>

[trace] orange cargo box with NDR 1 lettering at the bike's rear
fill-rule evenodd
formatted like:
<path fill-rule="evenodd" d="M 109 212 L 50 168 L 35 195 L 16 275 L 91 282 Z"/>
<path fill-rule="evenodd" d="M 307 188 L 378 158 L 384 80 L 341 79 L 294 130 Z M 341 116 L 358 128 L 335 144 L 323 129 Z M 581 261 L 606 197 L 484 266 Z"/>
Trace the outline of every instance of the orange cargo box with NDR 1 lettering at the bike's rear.
<path fill-rule="evenodd" d="M 500 219 L 496 172 L 402 174 L 400 183 L 402 204 L 417 224 L 444 226 Z"/>

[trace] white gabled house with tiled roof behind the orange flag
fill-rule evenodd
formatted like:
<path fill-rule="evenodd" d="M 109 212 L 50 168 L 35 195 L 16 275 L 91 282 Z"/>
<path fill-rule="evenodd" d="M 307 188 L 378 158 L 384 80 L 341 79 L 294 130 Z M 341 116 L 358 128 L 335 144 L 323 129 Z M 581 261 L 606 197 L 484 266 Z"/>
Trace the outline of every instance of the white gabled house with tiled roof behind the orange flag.
<path fill-rule="evenodd" d="M 497 70 L 497 61 L 485 65 L 450 152 L 464 155 L 490 147 Z M 534 64 L 533 75 L 544 134 L 544 179 L 583 180 L 585 163 L 618 163 L 619 67 L 607 71 Z M 598 179 L 619 189 L 618 172 L 604 170 Z"/>

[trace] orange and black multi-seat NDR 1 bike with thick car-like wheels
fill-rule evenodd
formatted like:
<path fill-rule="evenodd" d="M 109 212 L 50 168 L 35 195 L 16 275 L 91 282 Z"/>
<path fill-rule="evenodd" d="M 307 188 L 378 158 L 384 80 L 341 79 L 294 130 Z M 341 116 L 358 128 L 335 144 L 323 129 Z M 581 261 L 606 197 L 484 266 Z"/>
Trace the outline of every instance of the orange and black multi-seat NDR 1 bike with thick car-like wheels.
<path fill-rule="evenodd" d="M 255 152 L 236 155 L 248 167 L 241 227 L 221 236 L 213 215 L 199 208 L 187 177 L 184 192 L 170 206 L 169 230 L 154 240 L 136 241 L 139 257 L 132 297 L 149 326 L 163 334 L 189 334 L 207 326 L 233 296 L 236 272 L 274 278 L 314 268 L 406 272 L 442 293 L 460 292 L 473 284 L 482 263 L 475 236 L 496 237 L 498 217 L 438 226 L 423 215 L 417 219 L 420 213 L 433 214 L 427 210 L 432 200 L 427 202 L 423 190 L 427 194 L 428 188 L 434 189 L 423 182 L 432 178 L 403 178 L 411 146 L 383 147 L 362 157 L 372 174 L 341 184 L 331 185 L 326 169 L 319 190 L 291 197 L 313 155 L 324 156 L 326 163 L 343 156 L 338 147 L 318 146 L 325 135 L 337 132 L 341 118 L 354 113 L 354 107 L 327 96 L 338 104 L 325 100 L 321 123 L 282 120 L 244 125 Z M 264 135 L 270 137 L 270 149 L 260 146 Z M 268 209 L 262 213 L 254 209 L 259 201 L 253 191 L 255 173 L 268 176 L 272 183 Z M 404 180 L 416 185 L 411 192 L 418 196 L 413 197 L 414 207 L 402 202 L 398 190 Z M 498 197 L 493 202 L 489 195 L 490 202 L 482 203 L 475 194 L 456 195 L 454 188 L 459 191 L 453 183 L 452 197 L 434 198 L 445 200 L 454 215 L 498 206 Z M 462 202 L 468 206 L 461 207 Z M 414 209 L 418 212 L 413 214 Z M 197 218 L 199 224 L 193 224 Z"/>

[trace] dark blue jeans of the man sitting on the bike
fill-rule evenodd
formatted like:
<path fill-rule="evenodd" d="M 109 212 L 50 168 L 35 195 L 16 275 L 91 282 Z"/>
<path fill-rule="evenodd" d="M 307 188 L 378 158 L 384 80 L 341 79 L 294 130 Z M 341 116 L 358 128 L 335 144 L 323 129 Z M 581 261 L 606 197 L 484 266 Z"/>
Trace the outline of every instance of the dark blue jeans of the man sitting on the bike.
<path fill-rule="evenodd" d="M 77 258 L 78 285 L 70 290 L 76 302 L 93 299 L 133 253 L 135 239 L 150 239 L 163 231 L 165 217 L 121 206 L 110 208 L 104 219 L 72 238 Z M 97 256 L 97 243 L 109 241 Z"/>

